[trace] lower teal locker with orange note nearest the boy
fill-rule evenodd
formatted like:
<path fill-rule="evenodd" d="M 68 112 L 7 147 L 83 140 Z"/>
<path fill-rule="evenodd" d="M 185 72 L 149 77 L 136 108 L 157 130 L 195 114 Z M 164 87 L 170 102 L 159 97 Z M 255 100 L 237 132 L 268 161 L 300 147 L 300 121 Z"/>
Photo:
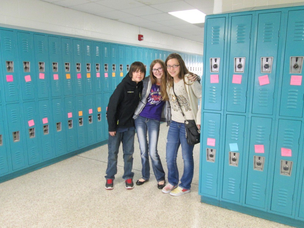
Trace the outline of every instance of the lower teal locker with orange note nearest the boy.
<path fill-rule="evenodd" d="M 103 99 L 102 93 L 95 94 L 95 126 L 96 126 L 96 138 L 97 142 L 102 142 L 105 140 L 105 130 L 104 130 L 104 121 L 105 115 L 103 115 L 104 107 L 103 107 Z"/>

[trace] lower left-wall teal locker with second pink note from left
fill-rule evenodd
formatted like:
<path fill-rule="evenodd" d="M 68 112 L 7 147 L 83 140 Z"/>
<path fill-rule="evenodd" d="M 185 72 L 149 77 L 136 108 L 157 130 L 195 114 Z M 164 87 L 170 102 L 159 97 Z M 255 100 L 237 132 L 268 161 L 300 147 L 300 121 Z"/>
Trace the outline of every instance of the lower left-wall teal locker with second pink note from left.
<path fill-rule="evenodd" d="M 40 100 L 39 105 L 39 121 L 40 121 L 40 135 L 42 145 L 42 158 L 43 160 L 54 157 L 53 139 L 52 139 L 52 119 L 50 113 L 49 100 Z"/>

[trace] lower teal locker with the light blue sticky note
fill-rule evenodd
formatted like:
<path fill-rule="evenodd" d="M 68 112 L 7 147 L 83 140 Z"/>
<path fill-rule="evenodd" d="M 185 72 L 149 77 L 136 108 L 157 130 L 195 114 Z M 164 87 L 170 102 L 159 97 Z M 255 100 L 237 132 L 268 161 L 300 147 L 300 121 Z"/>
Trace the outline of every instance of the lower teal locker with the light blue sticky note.
<path fill-rule="evenodd" d="M 240 203 L 245 116 L 227 115 L 222 198 Z"/>

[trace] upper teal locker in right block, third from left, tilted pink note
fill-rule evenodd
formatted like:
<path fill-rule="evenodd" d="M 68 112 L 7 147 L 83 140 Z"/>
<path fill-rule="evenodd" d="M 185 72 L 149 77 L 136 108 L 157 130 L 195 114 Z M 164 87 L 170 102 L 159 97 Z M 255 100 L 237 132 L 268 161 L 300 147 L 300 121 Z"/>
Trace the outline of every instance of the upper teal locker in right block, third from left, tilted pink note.
<path fill-rule="evenodd" d="M 252 113 L 272 115 L 281 12 L 258 14 Z"/>

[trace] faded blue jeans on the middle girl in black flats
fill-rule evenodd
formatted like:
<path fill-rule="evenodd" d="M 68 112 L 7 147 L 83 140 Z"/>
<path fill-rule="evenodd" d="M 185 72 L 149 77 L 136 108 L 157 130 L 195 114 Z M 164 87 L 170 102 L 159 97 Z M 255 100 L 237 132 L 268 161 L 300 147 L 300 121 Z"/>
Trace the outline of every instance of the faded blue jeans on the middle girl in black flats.
<path fill-rule="evenodd" d="M 141 173 L 144 180 L 149 180 L 150 178 L 149 155 L 157 182 L 165 179 L 165 172 L 161 164 L 161 159 L 157 153 L 159 126 L 160 121 L 155 119 L 144 118 L 142 116 L 138 116 L 135 119 L 135 127 L 140 147 L 141 164 L 143 166 Z M 147 132 L 149 134 L 149 143 L 147 141 Z"/>

